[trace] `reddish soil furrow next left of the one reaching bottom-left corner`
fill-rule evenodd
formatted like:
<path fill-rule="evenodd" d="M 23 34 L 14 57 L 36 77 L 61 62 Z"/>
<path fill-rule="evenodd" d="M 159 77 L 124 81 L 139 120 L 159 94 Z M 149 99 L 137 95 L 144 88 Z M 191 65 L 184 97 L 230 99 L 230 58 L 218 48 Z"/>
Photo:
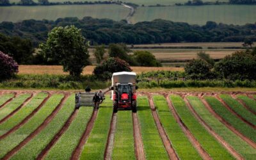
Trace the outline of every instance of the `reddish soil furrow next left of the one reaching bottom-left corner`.
<path fill-rule="evenodd" d="M 19 129 L 20 127 L 22 127 L 22 125 L 26 124 L 28 122 L 28 120 L 30 120 L 30 118 L 32 118 L 32 116 L 34 116 L 36 114 L 37 111 L 39 111 L 39 109 L 42 108 L 42 106 L 44 106 L 45 102 L 47 102 L 47 100 L 51 97 L 51 93 L 48 93 L 47 97 L 41 102 L 41 104 L 32 112 L 30 113 L 30 115 L 28 115 L 26 118 L 24 118 L 24 120 L 22 120 L 22 122 L 20 122 L 19 124 L 15 125 L 12 129 L 10 129 L 8 132 L 4 133 L 3 135 L 0 136 L 0 140 L 2 140 L 3 138 L 6 138 L 6 136 L 8 136 L 9 134 L 12 134 L 12 132 L 17 131 L 17 129 Z"/>

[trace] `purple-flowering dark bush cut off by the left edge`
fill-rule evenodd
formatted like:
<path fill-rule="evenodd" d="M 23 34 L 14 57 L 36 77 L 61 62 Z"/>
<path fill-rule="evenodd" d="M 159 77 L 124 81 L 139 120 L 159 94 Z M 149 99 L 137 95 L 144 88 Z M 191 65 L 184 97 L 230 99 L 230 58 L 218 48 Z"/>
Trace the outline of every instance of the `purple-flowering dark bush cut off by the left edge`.
<path fill-rule="evenodd" d="M 18 63 L 0 51 L 0 79 L 8 79 L 19 71 Z"/>

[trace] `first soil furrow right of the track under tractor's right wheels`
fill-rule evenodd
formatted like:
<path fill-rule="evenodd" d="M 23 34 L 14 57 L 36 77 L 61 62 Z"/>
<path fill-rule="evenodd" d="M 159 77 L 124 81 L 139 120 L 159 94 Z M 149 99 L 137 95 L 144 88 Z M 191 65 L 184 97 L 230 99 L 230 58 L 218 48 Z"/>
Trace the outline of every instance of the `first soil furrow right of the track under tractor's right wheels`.
<path fill-rule="evenodd" d="M 157 115 L 156 108 L 154 106 L 154 101 L 153 101 L 152 97 L 148 96 L 148 100 L 149 100 L 151 112 L 154 117 L 159 135 L 161 136 L 161 139 L 163 141 L 164 147 L 166 148 L 168 156 L 170 157 L 170 159 L 179 159 L 179 157 L 177 156 L 177 153 L 175 152 L 175 150 L 172 147 L 172 143 L 170 142 L 166 132 L 164 131 L 163 125 L 160 122 L 160 119 L 159 119 L 159 116 Z"/>

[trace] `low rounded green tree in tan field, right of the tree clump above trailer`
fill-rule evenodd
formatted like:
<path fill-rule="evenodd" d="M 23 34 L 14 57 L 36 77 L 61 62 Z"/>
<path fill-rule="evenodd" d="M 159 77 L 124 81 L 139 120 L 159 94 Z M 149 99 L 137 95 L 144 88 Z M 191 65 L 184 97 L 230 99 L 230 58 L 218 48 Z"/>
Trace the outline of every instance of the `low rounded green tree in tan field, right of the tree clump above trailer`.
<path fill-rule="evenodd" d="M 148 51 L 136 51 L 133 54 L 134 59 L 140 66 L 145 67 L 161 67 L 161 63 L 156 60 L 156 57 Z"/>

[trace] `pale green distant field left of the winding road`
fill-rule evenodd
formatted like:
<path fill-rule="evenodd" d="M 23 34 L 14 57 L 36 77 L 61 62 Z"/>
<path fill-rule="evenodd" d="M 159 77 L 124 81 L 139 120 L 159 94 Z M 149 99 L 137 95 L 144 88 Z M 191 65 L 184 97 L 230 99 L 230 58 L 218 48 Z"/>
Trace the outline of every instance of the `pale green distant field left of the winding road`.
<path fill-rule="evenodd" d="M 60 5 L 60 6 L 1 6 L 0 22 L 17 22 L 25 19 L 56 20 L 61 17 L 90 16 L 98 19 L 122 20 L 129 14 L 129 9 L 115 4 Z"/>

